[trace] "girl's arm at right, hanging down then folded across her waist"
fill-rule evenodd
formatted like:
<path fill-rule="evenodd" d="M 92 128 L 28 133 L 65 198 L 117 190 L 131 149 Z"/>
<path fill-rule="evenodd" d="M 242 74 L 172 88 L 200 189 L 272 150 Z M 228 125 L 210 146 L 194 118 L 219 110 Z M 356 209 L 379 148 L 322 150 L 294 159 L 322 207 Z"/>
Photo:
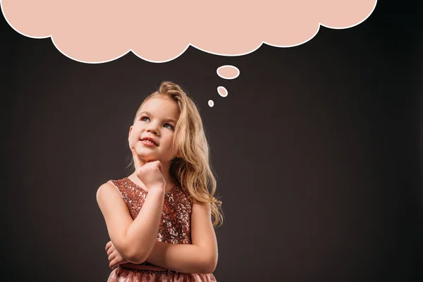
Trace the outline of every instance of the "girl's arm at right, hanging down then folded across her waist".
<path fill-rule="evenodd" d="M 147 262 L 182 273 L 209 274 L 216 269 L 217 240 L 210 204 L 194 202 L 191 214 L 191 243 L 157 241 Z"/>

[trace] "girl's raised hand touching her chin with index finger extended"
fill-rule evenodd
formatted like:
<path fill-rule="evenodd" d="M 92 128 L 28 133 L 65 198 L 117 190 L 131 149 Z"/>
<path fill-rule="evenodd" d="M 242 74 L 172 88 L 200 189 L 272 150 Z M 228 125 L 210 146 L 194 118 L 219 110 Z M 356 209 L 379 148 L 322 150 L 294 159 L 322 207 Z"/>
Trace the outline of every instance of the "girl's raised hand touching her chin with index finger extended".
<path fill-rule="evenodd" d="M 131 149 L 135 161 L 135 173 L 138 178 L 147 186 L 147 189 L 162 189 L 166 188 L 166 180 L 164 180 L 161 173 L 160 161 L 147 161 L 144 165 L 138 157 L 135 149 Z"/>

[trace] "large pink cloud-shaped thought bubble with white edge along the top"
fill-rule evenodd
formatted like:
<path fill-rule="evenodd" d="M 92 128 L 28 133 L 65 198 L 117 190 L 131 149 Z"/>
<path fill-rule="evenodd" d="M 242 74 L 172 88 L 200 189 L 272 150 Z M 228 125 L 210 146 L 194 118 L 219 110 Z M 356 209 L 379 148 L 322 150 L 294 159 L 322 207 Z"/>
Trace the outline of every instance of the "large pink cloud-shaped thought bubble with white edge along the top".
<path fill-rule="evenodd" d="M 374 11 L 377 0 L 1 0 L 14 30 L 51 37 L 70 59 L 105 63 L 132 51 L 164 63 L 189 47 L 241 56 L 262 44 L 294 47 L 312 39 L 320 25 L 353 27 Z"/>

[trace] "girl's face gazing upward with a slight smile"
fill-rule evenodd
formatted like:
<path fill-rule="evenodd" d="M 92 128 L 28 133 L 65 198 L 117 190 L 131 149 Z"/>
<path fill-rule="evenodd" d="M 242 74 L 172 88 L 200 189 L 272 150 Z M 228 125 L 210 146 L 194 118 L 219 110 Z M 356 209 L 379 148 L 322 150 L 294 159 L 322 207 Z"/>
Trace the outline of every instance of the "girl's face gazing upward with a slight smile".
<path fill-rule="evenodd" d="M 178 104 L 168 97 L 147 100 L 129 128 L 129 147 L 145 161 L 171 161 L 173 133 L 179 114 Z M 145 140 L 146 137 L 153 142 Z"/>

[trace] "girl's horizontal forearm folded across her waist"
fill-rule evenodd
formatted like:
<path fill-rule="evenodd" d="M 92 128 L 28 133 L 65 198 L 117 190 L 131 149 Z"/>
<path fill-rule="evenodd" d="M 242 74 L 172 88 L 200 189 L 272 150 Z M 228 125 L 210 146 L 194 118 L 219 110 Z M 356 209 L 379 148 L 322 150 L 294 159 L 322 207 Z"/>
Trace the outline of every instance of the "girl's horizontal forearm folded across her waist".
<path fill-rule="evenodd" d="M 189 244 L 168 244 L 157 241 L 147 262 L 182 273 L 208 274 L 216 268 L 217 259 L 202 247 Z"/>

